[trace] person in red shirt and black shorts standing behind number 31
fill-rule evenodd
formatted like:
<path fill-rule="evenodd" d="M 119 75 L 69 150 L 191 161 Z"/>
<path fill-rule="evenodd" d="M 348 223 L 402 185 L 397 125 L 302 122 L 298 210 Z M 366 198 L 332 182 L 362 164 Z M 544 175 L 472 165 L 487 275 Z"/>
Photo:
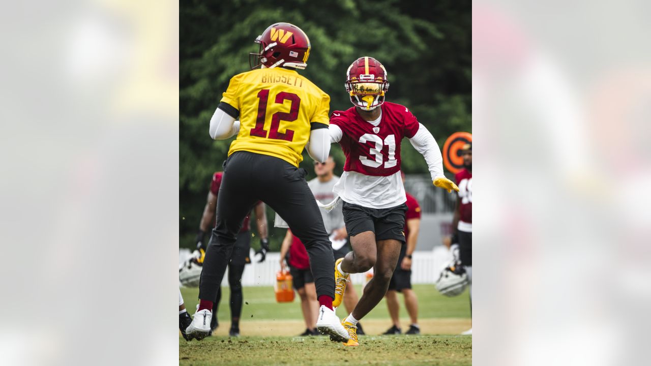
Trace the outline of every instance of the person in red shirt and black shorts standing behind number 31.
<path fill-rule="evenodd" d="M 405 175 L 400 172 L 402 175 L 402 182 L 405 181 Z M 421 328 L 418 326 L 418 298 L 416 297 L 415 292 L 411 289 L 411 255 L 416 249 L 416 242 L 418 240 L 418 233 L 421 229 L 421 206 L 418 204 L 418 201 L 410 195 L 408 192 L 405 192 L 407 197 L 407 212 L 405 214 L 405 237 L 407 238 L 407 244 L 402 246 L 400 249 L 400 257 L 398 257 L 398 265 L 396 266 L 395 271 L 393 271 L 393 277 L 389 282 L 389 290 L 385 298 L 387 299 L 387 308 L 389 309 L 389 315 L 391 316 L 391 321 L 393 321 L 393 326 L 389 330 L 385 331 L 384 334 L 401 334 L 402 330 L 400 328 L 400 318 L 398 316 L 400 312 L 400 303 L 398 302 L 397 292 L 402 292 L 405 300 L 405 307 L 407 308 L 407 313 L 409 313 L 409 319 L 411 320 L 411 325 L 409 325 L 409 330 L 405 334 L 420 334 Z"/>

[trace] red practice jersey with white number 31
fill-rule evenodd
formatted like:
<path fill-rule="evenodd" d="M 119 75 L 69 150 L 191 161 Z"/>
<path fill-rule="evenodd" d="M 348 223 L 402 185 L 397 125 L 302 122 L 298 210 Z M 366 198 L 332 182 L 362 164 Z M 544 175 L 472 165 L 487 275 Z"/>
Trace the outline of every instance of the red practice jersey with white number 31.
<path fill-rule="evenodd" d="M 357 113 L 356 107 L 334 111 L 330 123 L 341 128 L 339 144 L 346 155 L 344 171 L 364 175 L 389 176 L 400 171 L 400 141 L 418 132 L 416 117 L 400 104 L 385 102 L 382 117 L 373 126 Z"/>

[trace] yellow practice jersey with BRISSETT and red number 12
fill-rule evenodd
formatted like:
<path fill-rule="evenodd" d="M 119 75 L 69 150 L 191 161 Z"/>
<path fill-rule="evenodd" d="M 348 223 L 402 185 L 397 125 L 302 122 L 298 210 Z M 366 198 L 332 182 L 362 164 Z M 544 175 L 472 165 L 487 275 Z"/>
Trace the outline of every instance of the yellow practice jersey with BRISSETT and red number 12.
<path fill-rule="evenodd" d="M 330 96 L 285 68 L 261 68 L 232 77 L 221 102 L 240 113 L 240 133 L 230 144 L 229 156 L 250 151 L 298 167 L 310 131 L 329 124 Z"/>

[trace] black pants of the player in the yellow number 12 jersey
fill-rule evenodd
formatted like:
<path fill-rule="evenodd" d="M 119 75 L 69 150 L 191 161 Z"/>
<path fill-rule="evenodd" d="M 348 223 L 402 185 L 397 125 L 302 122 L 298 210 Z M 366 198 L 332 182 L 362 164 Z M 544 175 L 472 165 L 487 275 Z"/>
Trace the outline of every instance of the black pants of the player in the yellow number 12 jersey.
<path fill-rule="evenodd" d="M 201 272 L 201 300 L 215 299 L 243 220 L 258 201 L 277 212 L 305 244 L 317 296 L 334 298 L 335 258 L 305 174 L 304 169 L 273 156 L 245 151 L 229 156 L 217 194 L 217 221 Z"/>

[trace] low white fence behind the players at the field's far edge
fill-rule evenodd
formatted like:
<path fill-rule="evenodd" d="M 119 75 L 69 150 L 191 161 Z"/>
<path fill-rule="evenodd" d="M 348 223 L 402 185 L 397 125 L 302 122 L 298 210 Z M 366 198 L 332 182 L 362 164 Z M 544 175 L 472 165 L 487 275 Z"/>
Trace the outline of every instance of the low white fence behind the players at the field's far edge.
<path fill-rule="evenodd" d="M 251 249 L 251 259 L 253 257 Z M 190 255 L 187 249 L 180 249 L 178 252 L 179 261 L 183 262 Z M 255 259 L 254 259 L 255 260 Z M 281 269 L 280 253 L 271 252 L 262 263 L 253 262 L 247 264 L 242 275 L 242 286 L 273 286 L 276 280 L 276 272 Z M 449 260 L 449 252 L 446 247 L 436 246 L 432 251 L 415 251 L 411 264 L 411 283 L 434 283 L 441 268 Z M 399 265 L 399 264 L 398 264 Z M 365 283 L 365 274 L 352 274 L 351 280 L 355 284 Z M 228 276 L 224 276 L 222 286 L 228 286 Z"/>

